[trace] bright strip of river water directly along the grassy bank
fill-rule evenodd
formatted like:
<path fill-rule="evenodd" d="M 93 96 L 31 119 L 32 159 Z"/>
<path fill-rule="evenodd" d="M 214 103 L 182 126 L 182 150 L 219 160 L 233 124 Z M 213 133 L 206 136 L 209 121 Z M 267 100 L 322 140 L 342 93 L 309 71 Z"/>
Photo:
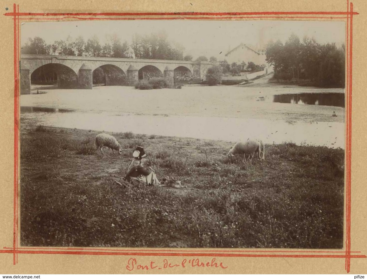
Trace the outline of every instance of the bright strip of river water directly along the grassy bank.
<path fill-rule="evenodd" d="M 265 143 L 294 142 L 297 145 L 325 145 L 344 148 L 344 123 L 291 122 L 203 116 L 129 115 L 108 112 L 80 112 L 67 109 L 21 108 L 21 122 L 86 130 L 127 132 L 239 141 L 258 138 Z"/>

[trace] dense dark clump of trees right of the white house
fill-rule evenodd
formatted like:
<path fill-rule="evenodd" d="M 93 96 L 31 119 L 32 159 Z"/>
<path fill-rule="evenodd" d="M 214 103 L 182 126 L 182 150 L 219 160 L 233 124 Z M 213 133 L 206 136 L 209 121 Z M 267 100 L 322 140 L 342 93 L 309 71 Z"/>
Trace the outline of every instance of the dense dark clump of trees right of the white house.
<path fill-rule="evenodd" d="M 345 46 L 335 43 L 319 44 L 315 39 L 303 41 L 292 34 L 283 44 L 280 40 L 266 47 L 266 61 L 274 66 L 277 81 L 300 83 L 322 87 L 345 86 Z"/>

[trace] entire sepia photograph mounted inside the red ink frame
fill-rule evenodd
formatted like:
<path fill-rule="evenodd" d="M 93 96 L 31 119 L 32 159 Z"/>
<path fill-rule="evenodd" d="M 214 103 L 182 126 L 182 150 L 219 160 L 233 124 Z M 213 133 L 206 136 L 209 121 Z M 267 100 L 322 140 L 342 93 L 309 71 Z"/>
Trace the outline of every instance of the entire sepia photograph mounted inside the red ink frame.
<path fill-rule="evenodd" d="M 344 21 L 20 30 L 21 246 L 344 247 Z"/>

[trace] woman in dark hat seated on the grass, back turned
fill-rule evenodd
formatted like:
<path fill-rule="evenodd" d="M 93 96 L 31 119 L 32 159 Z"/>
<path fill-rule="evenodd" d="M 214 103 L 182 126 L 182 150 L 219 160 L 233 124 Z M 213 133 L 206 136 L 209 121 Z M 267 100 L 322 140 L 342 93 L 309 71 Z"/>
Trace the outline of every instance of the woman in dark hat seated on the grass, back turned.
<path fill-rule="evenodd" d="M 146 185 L 160 185 L 158 178 L 156 177 L 155 171 L 152 167 L 144 167 L 142 164 L 142 158 L 146 156 L 144 149 L 141 146 L 137 146 L 134 152 L 132 152 L 132 162 L 127 170 L 125 179 L 130 181 L 130 179 L 137 180 L 139 182 L 146 183 Z"/>

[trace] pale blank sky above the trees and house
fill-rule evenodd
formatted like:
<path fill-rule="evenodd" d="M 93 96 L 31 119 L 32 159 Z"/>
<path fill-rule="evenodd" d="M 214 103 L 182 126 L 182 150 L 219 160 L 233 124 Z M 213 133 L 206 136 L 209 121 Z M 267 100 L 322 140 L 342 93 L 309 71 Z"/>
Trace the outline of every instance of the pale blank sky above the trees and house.
<path fill-rule="evenodd" d="M 106 35 L 117 34 L 122 41 L 131 43 L 134 34 L 150 35 L 164 30 L 168 40 L 181 44 L 184 55 L 195 58 L 205 55 L 224 59 L 224 54 L 240 43 L 250 46 L 265 45 L 269 40 L 283 43 L 295 33 L 300 40 L 314 37 L 317 42 L 345 42 L 343 21 L 203 21 L 203 20 L 126 20 L 126 21 L 69 21 L 25 22 L 21 26 L 21 44 L 29 37 L 41 37 L 48 44 L 65 40 L 68 36 L 83 36 L 87 41 L 97 35 L 104 44 Z"/>

